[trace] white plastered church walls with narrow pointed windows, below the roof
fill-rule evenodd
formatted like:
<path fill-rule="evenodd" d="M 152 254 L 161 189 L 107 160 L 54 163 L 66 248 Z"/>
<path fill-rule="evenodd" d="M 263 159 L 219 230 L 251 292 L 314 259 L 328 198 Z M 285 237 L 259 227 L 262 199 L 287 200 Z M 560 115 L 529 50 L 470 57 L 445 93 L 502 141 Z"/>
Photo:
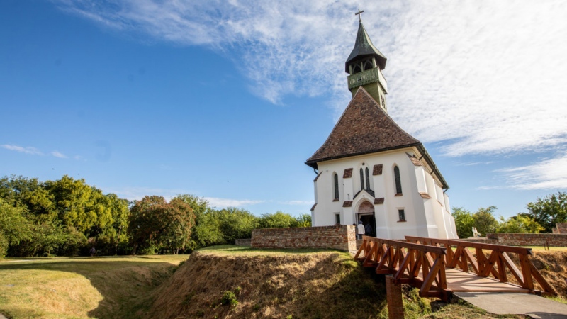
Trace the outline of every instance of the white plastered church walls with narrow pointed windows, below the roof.
<path fill-rule="evenodd" d="M 316 197 L 318 204 L 314 210 L 313 225 L 335 225 L 335 213 L 337 212 L 340 213 L 342 225 L 352 225 L 352 223 L 357 223 L 357 208 L 362 201 L 374 203 L 375 198 L 384 198 L 383 203 L 374 203 L 378 237 L 395 239 L 402 239 L 404 235 L 439 237 L 438 229 L 444 229 L 447 220 L 442 214 L 441 206 L 437 203 L 438 194 L 434 180 L 428 176 L 430 174 L 427 171 L 424 171 L 424 167 L 416 167 L 406 152 L 413 154 L 413 149 L 319 162 L 318 169 L 321 175 L 316 182 L 318 184 Z M 383 165 L 382 174 L 373 175 L 375 164 Z M 395 196 L 393 169 L 396 165 L 400 169 L 401 196 Z M 361 189 L 360 168 L 363 169 L 363 178 L 366 178 L 366 167 L 369 168 L 369 181 L 374 197 L 362 191 L 357 198 L 354 198 Z M 343 178 L 344 169 L 350 168 L 352 168 L 352 177 Z M 339 177 L 339 201 L 333 201 L 333 172 L 336 172 Z M 427 192 L 432 198 L 422 198 L 420 191 Z M 441 196 L 443 196 L 442 193 Z M 342 207 L 345 201 L 352 201 L 352 206 Z M 438 208 L 437 216 L 436 207 Z M 405 211 L 405 221 L 399 220 L 398 209 Z"/>

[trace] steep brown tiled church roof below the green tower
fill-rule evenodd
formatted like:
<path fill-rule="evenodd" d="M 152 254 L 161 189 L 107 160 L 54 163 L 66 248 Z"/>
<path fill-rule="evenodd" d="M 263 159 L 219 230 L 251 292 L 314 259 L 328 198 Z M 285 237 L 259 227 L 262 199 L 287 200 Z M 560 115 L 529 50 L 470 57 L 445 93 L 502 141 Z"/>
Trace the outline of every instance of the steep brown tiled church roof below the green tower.
<path fill-rule="evenodd" d="M 323 145 L 305 164 L 421 145 L 360 86 Z"/>

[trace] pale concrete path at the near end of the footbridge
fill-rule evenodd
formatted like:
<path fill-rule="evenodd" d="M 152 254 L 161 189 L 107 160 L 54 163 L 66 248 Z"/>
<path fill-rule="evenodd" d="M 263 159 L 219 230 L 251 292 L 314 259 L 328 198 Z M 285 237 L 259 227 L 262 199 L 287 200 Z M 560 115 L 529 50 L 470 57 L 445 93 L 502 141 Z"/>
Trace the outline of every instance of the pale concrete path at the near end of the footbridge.
<path fill-rule="evenodd" d="M 567 318 L 567 305 L 528 293 L 453 293 L 495 315 L 529 315 L 531 318 Z"/>

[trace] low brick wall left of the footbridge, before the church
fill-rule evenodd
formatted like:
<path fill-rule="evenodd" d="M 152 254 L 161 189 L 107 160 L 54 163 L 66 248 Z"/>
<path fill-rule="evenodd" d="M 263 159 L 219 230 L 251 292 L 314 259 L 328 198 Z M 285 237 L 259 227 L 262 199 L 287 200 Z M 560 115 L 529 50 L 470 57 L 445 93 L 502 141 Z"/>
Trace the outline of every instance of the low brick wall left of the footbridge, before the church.
<path fill-rule="evenodd" d="M 353 225 L 252 230 L 252 248 L 330 248 L 356 252 Z"/>

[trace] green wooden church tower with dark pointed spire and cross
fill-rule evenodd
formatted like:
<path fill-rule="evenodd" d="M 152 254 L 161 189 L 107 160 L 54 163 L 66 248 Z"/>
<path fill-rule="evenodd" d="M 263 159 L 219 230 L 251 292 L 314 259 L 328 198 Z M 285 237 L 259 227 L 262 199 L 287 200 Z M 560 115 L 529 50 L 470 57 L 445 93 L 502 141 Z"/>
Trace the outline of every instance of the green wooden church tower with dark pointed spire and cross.
<path fill-rule="evenodd" d="M 384 111 L 386 108 L 386 94 L 388 86 L 386 79 L 382 75 L 382 70 L 386 67 L 386 57 L 372 44 L 366 29 L 362 24 L 361 13 L 359 15 L 359 30 L 354 49 L 350 52 L 347 62 L 344 63 L 344 72 L 347 72 L 349 90 L 352 96 L 357 93 L 359 86 L 374 98 Z"/>

